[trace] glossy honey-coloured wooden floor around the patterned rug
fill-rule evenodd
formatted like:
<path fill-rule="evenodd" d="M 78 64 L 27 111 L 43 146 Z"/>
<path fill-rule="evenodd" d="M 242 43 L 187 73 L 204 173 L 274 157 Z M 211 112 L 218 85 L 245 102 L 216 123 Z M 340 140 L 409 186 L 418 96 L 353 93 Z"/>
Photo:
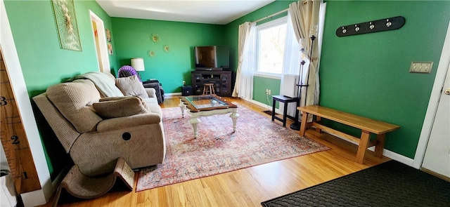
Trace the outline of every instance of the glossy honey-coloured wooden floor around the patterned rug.
<path fill-rule="evenodd" d="M 271 119 L 263 112 L 267 108 L 238 98 L 229 100 Z M 176 107 L 178 104 L 179 97 L 173 97 L 167 98 L 161 106 Z M 276 123 L 281 125 L 279 121 Z M 292 121 L 289 120 L 287 128 L 290 123 Z M 364 164 L 359 164 L 354 161 L 356 145 L 314 130 L 308 130 L 306 136 L 331 149 L 142 192 L 110 192 L 97 199 L 63 206 L 261 206 L 262 201 L 389 160 L 386 157 L 380 159 L 368 151 Z M 44 206 L 52 204 L 53 198 Z"/>

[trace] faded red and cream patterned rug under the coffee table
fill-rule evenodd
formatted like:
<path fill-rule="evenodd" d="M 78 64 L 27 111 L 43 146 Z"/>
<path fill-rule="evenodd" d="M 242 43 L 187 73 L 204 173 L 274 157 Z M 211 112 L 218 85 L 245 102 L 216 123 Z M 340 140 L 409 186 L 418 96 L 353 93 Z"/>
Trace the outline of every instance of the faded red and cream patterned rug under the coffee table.
<path fill-rule="evenodd" d="M 198 138 L 179 107 L 162 109 L 165 161 L 139 171 L 136 192 L 329 149 L 245 107 L 236 132 L 229 114 L 200 117 Z"/>

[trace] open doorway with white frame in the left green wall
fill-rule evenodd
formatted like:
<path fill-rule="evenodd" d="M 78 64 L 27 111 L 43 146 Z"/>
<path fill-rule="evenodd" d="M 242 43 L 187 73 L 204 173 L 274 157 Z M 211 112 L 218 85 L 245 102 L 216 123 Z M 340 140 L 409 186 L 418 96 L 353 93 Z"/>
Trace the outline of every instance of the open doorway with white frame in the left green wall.
<path fill-rule="evenodd" d="M 100 72 L 111 73 L 108 47 L 106 46 L 105 25 L 103 25 L 103 20 L 98 18 L 95 13 L 89 11 L 89 14 L 91 16 L 92 34 L 94 35 L 96 46 L 98 68 Z"/>

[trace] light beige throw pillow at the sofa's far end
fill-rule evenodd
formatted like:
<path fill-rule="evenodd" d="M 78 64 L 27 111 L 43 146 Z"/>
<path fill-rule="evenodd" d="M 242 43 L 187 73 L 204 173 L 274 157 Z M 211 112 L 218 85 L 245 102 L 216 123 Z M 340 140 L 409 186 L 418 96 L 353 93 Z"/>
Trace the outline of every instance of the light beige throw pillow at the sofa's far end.
<path fill-rule="evenodd" d="M 137 76 L 127 76 L 115 79 L 115 85 L 124 95 L 139 95 L 141 98 L 148 98 L 146 89 L 143 88 Z"/>

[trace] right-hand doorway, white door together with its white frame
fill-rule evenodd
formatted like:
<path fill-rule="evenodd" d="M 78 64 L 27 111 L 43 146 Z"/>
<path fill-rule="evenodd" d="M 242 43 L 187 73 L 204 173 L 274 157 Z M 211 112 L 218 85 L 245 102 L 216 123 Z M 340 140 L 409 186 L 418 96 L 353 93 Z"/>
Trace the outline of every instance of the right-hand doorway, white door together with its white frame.
<path fill-rule="evenodd" d="M 450 178 L 450 22 L 413 167 Z"/>

